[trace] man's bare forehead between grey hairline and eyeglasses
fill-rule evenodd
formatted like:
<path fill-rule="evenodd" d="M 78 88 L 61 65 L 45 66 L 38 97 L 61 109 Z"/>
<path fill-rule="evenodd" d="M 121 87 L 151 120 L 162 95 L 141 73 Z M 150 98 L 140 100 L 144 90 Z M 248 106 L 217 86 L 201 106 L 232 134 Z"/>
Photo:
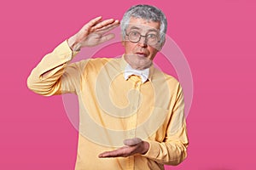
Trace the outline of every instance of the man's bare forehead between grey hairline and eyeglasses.
<path fill-rule="evenodd" d="M 141 18 L 131 17 L 127 28 L 128 30 L 136 29 L 139 31 L 159 31 L 160 22 L 154 22 L 154 21 L 144 20 Z"/>

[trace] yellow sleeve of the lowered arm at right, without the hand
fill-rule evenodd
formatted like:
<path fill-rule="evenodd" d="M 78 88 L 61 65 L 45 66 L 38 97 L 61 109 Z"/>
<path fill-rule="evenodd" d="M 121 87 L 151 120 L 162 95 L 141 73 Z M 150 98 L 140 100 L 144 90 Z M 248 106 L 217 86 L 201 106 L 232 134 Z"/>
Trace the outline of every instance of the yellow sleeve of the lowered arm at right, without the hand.
<path fill-rule="evenodd" d="M 163 142 L 148 140 L 149 149 L 143 156 L 167 165 L 177 165 L 186 158 L 189 140 L 183 111 L 183 91 L 179 85 L 165 140 Z"/>

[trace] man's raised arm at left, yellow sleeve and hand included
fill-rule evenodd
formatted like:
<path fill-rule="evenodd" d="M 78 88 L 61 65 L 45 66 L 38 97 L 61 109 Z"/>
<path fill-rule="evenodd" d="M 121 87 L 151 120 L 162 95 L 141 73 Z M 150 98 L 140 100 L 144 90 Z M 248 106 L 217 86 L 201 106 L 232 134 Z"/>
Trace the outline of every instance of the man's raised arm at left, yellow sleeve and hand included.
<path fill-rule="evenodd" d="M 55 50 L 44 56 L 27 78 L 27 87 L 42 95 L 75 93 L 79 73 L 83 71 L 84 62 L 69 65 L 69 61 L 80 48 L 96 46 L 114 37 L 106 34 L 119 26 L 118 20 L 103 20 L 97 17 L 90 20 L 82 29 L 67 41 L 62 42 Z M 80 72 L 79 72 L 80 71 Z"/>

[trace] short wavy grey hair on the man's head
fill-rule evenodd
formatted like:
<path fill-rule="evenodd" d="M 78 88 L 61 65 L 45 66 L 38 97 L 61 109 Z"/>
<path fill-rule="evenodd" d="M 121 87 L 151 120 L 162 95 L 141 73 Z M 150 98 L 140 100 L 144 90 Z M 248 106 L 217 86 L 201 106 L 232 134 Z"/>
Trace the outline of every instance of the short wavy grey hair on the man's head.
<path fill-rule="evenodd" d="M 129 8 L 120 22 L 122 37 L 125 39 L 126 28 L 130 18 L 140 18 L 148 21 L 160 22 L 160 44 L 166 40 L 167 20 L 166 15 L 159 9 L 151 5 L 135 5 Z"/>

